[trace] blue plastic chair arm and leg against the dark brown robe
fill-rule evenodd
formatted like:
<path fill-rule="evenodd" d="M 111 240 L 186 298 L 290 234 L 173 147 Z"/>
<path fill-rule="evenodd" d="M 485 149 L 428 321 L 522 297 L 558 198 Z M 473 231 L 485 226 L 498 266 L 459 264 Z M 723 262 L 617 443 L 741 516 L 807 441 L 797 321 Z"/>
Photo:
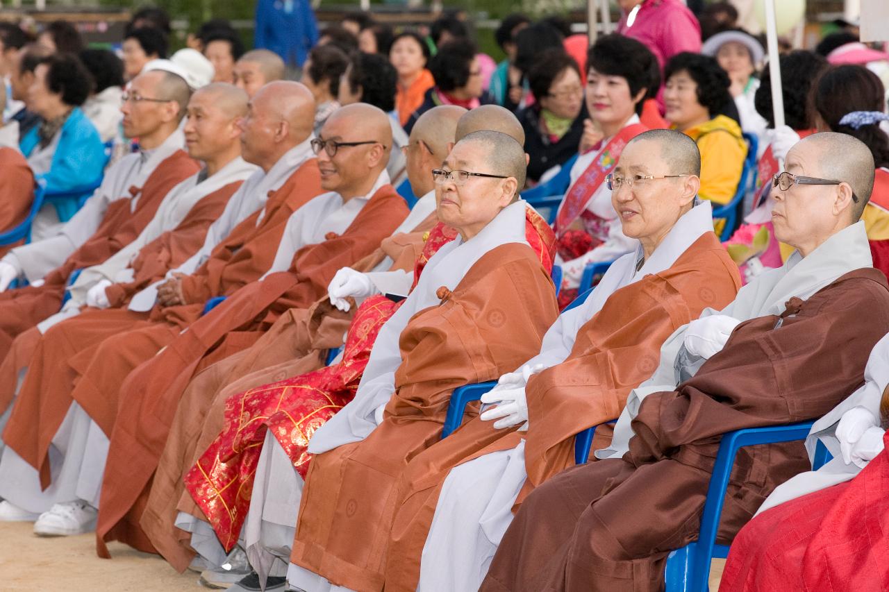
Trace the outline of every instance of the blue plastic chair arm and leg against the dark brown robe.
<path fill-rule="evenodd" d="M 697 541 L 669 554 L 664 572 L 667 592 L 707 592 L 710 560 L 728 556 L 729 547 L 717 545 L 717 529 L 725 504 L 729 476 L 738 451 L 744 446 L 805 440 L 812 424 L 813 421 L 803 421 L 787 426 L 738 429 L 722 436 L 713 475 L 710 476 L 707 501 L 701 515 L 701 532 Z M 825 450 L 816 455 L 819 457 L 816 460 L 825 460 L 826 453 Z"/>

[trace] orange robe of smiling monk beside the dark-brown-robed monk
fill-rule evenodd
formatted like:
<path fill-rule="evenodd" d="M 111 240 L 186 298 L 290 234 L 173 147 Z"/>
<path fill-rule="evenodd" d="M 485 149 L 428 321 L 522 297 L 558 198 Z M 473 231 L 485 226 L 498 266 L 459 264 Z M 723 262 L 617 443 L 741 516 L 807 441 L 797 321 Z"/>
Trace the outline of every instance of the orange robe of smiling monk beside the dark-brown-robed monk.
<path fill-rule="evenodd" d="M 399 485 L 386 569 L 387 590 L 417 587 L 420 552 L 451 468 L 525 440 L 528 479 L 519 495 L 574 464 L 574 436 L 615 420 L 632 388 L 651 377 L 661 345 L 704 308 L 724 308 L 741 287 L 738 266 L 717 236 L 698 238 L 673 264 L 625 285 L 581 326 L 569 356 L 534 374 L 526 388 L 527 432 L 476 417 L 415 457 Z M 596 441 L 610 430 L 597 429 Z M 594 442 L 593 448 L 597 447 Z M 515 490 L 514 490 L 515 491 Z M 471 528 L 470 525 L 468 525 Z"/>

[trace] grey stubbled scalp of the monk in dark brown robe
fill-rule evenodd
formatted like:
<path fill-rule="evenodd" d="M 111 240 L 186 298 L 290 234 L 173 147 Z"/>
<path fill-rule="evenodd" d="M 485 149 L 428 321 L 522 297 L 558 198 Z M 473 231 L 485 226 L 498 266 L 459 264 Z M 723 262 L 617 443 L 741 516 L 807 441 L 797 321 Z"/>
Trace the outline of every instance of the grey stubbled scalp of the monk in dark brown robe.
<path fill-rule="evenodd" d="M 797 146 L 819 148 L 819 174 L 821 179 L 845 181 L 852 187 L 858 202 L 852 205 L 852 221 L 861 219 L 874 190 L 874 156 L 870 148 L 857 138 L 845 133 L 821 132 L 805 137 Z"/>

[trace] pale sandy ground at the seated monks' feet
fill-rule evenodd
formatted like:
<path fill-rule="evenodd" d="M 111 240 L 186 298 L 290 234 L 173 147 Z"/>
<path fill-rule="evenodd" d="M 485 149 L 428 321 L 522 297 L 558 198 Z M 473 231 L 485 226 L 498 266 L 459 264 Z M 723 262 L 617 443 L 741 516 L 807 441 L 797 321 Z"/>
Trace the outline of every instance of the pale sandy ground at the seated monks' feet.
<path fill-rule="evenodd" d="M 108 549 L 113 559 L 100 559 L 95 537 L 43 539 L 29 523 L 0 522 L 0 590 L 28 592 L 200 592 L 197 574 L 173 571 L 159 556 L 140 553 L 120 543 Z M 714 559 L 710 590 L 716 592 L 724 559 Z"/>

